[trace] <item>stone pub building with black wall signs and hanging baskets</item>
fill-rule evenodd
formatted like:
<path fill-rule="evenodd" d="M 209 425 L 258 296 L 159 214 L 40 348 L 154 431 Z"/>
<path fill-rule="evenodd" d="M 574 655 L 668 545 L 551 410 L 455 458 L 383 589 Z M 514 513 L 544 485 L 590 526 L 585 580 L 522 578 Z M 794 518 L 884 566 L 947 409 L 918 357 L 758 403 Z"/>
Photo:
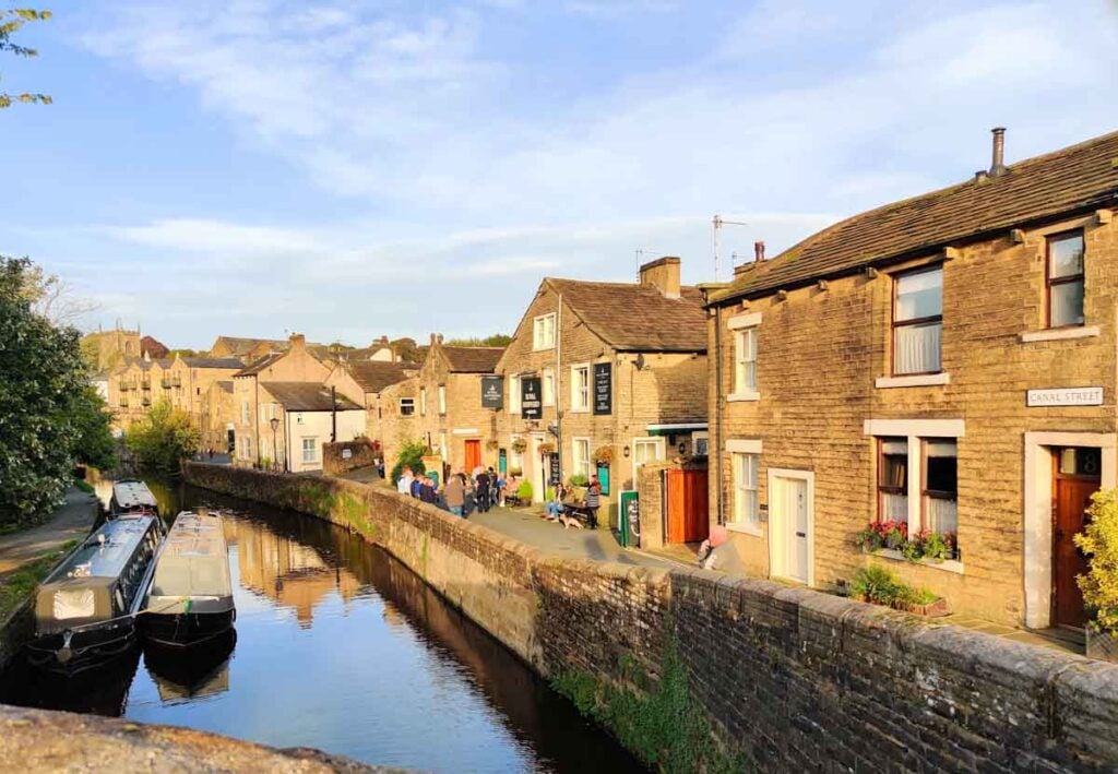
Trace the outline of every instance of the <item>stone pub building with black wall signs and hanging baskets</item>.
<path fill-rule="evenodd" d="M 672 256 L 641 266 L 636 283 L 544 279 L 496 365 L 498 464 L 536 501 L 555 463 L 565 481 L 604 476 L 600 522 L 616 522 L 642 465 L 705 452 L 702 304 Z"/>

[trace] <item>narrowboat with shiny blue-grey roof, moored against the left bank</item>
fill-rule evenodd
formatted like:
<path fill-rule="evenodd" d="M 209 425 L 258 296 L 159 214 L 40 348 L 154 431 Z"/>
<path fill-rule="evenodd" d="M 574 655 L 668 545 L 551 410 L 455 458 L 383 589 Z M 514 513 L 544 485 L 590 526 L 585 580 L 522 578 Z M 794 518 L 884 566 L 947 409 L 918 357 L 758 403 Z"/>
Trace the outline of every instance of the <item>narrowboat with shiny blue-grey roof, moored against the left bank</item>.
<path fill-rule="evenodd" d="M 28 661 L 74 674 L 130 652 L 162 539 L 158 516 L 126 515 L 70 551 L 36 594 Z"/>

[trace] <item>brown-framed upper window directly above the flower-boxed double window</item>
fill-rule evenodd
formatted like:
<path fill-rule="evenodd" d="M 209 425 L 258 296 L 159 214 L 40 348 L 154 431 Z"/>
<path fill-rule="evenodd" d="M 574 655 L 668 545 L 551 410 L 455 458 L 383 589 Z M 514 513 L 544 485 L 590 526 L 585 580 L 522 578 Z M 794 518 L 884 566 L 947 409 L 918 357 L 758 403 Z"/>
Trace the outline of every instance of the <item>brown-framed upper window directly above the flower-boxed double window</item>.
<path fill-rule="evenodd" d="M 893 375 L 940 372 L 942 266 L 898 274 L 893 286 Z"/>

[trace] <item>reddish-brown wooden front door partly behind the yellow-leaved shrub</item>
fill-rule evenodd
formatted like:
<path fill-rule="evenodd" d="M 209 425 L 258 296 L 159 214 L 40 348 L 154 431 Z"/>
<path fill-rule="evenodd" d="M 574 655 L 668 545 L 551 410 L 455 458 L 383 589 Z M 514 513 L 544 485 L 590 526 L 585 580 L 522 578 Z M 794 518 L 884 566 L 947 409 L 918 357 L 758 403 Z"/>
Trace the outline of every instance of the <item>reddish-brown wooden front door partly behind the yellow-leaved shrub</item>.
<path fill-rule="evenodd" d="M 1072 539 L 1083 531 L 1084 513 L 1099 482 L 1090 479 L 1055 480 L 1052 515 L 1052 621 L 1058 625 L 1087 623 L 1083 593 L 1076 576 L 1087 572 L 1087 559 Z"/>

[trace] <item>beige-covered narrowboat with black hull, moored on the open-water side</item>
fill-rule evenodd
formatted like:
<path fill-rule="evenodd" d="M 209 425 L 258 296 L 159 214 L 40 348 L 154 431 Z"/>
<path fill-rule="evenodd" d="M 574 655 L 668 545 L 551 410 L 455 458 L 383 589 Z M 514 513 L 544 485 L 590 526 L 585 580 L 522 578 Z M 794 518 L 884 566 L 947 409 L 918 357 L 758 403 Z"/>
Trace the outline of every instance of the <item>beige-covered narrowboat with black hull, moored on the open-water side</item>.
<path fill-rule="evenodd" d="M 171 648 L 199 645 L 227 633 L 236 617 L 220 513 L 179 513 L 155 557 L 140 622 L 144 640 Z"/>

